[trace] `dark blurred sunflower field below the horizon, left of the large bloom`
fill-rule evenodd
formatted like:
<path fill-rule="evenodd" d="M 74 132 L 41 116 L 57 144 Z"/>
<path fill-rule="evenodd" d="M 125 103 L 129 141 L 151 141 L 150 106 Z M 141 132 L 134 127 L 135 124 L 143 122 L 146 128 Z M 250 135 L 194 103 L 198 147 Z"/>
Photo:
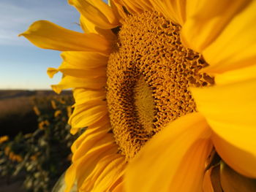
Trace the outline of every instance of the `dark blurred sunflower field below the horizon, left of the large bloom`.
<path fill-rule="evenodd" d="M 71 91 L 0 91 L 0 192 L 48 192 L 67 169 Z M 2 136 L 2 137 L 1 137 Z"/>

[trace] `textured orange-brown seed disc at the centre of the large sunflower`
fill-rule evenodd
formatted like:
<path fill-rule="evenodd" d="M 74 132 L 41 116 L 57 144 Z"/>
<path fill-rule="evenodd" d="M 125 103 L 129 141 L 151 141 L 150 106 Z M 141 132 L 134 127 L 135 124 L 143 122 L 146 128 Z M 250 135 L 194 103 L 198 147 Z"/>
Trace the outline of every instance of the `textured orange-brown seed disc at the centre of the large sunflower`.
<path fill-rule="evenodd" d="M 107 101 L 116 143 L 127 160 L 196 105 L 189 86 L 213 85 L 202 55 L 184 47 L 181 27 L 157 12 L 129 15 L 107 68 Z"/>

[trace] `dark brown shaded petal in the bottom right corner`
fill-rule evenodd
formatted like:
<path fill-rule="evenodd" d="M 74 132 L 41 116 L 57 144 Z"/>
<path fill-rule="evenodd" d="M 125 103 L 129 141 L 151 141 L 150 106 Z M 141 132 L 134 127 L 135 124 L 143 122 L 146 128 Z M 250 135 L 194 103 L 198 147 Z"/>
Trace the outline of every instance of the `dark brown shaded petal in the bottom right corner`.
<path fill-rule="evenodd" d="M 256 191 L 256 180 L 238 174 L 222 162 L 220 169 L 222 188 L 228 192 L 253 192 Z"/>

